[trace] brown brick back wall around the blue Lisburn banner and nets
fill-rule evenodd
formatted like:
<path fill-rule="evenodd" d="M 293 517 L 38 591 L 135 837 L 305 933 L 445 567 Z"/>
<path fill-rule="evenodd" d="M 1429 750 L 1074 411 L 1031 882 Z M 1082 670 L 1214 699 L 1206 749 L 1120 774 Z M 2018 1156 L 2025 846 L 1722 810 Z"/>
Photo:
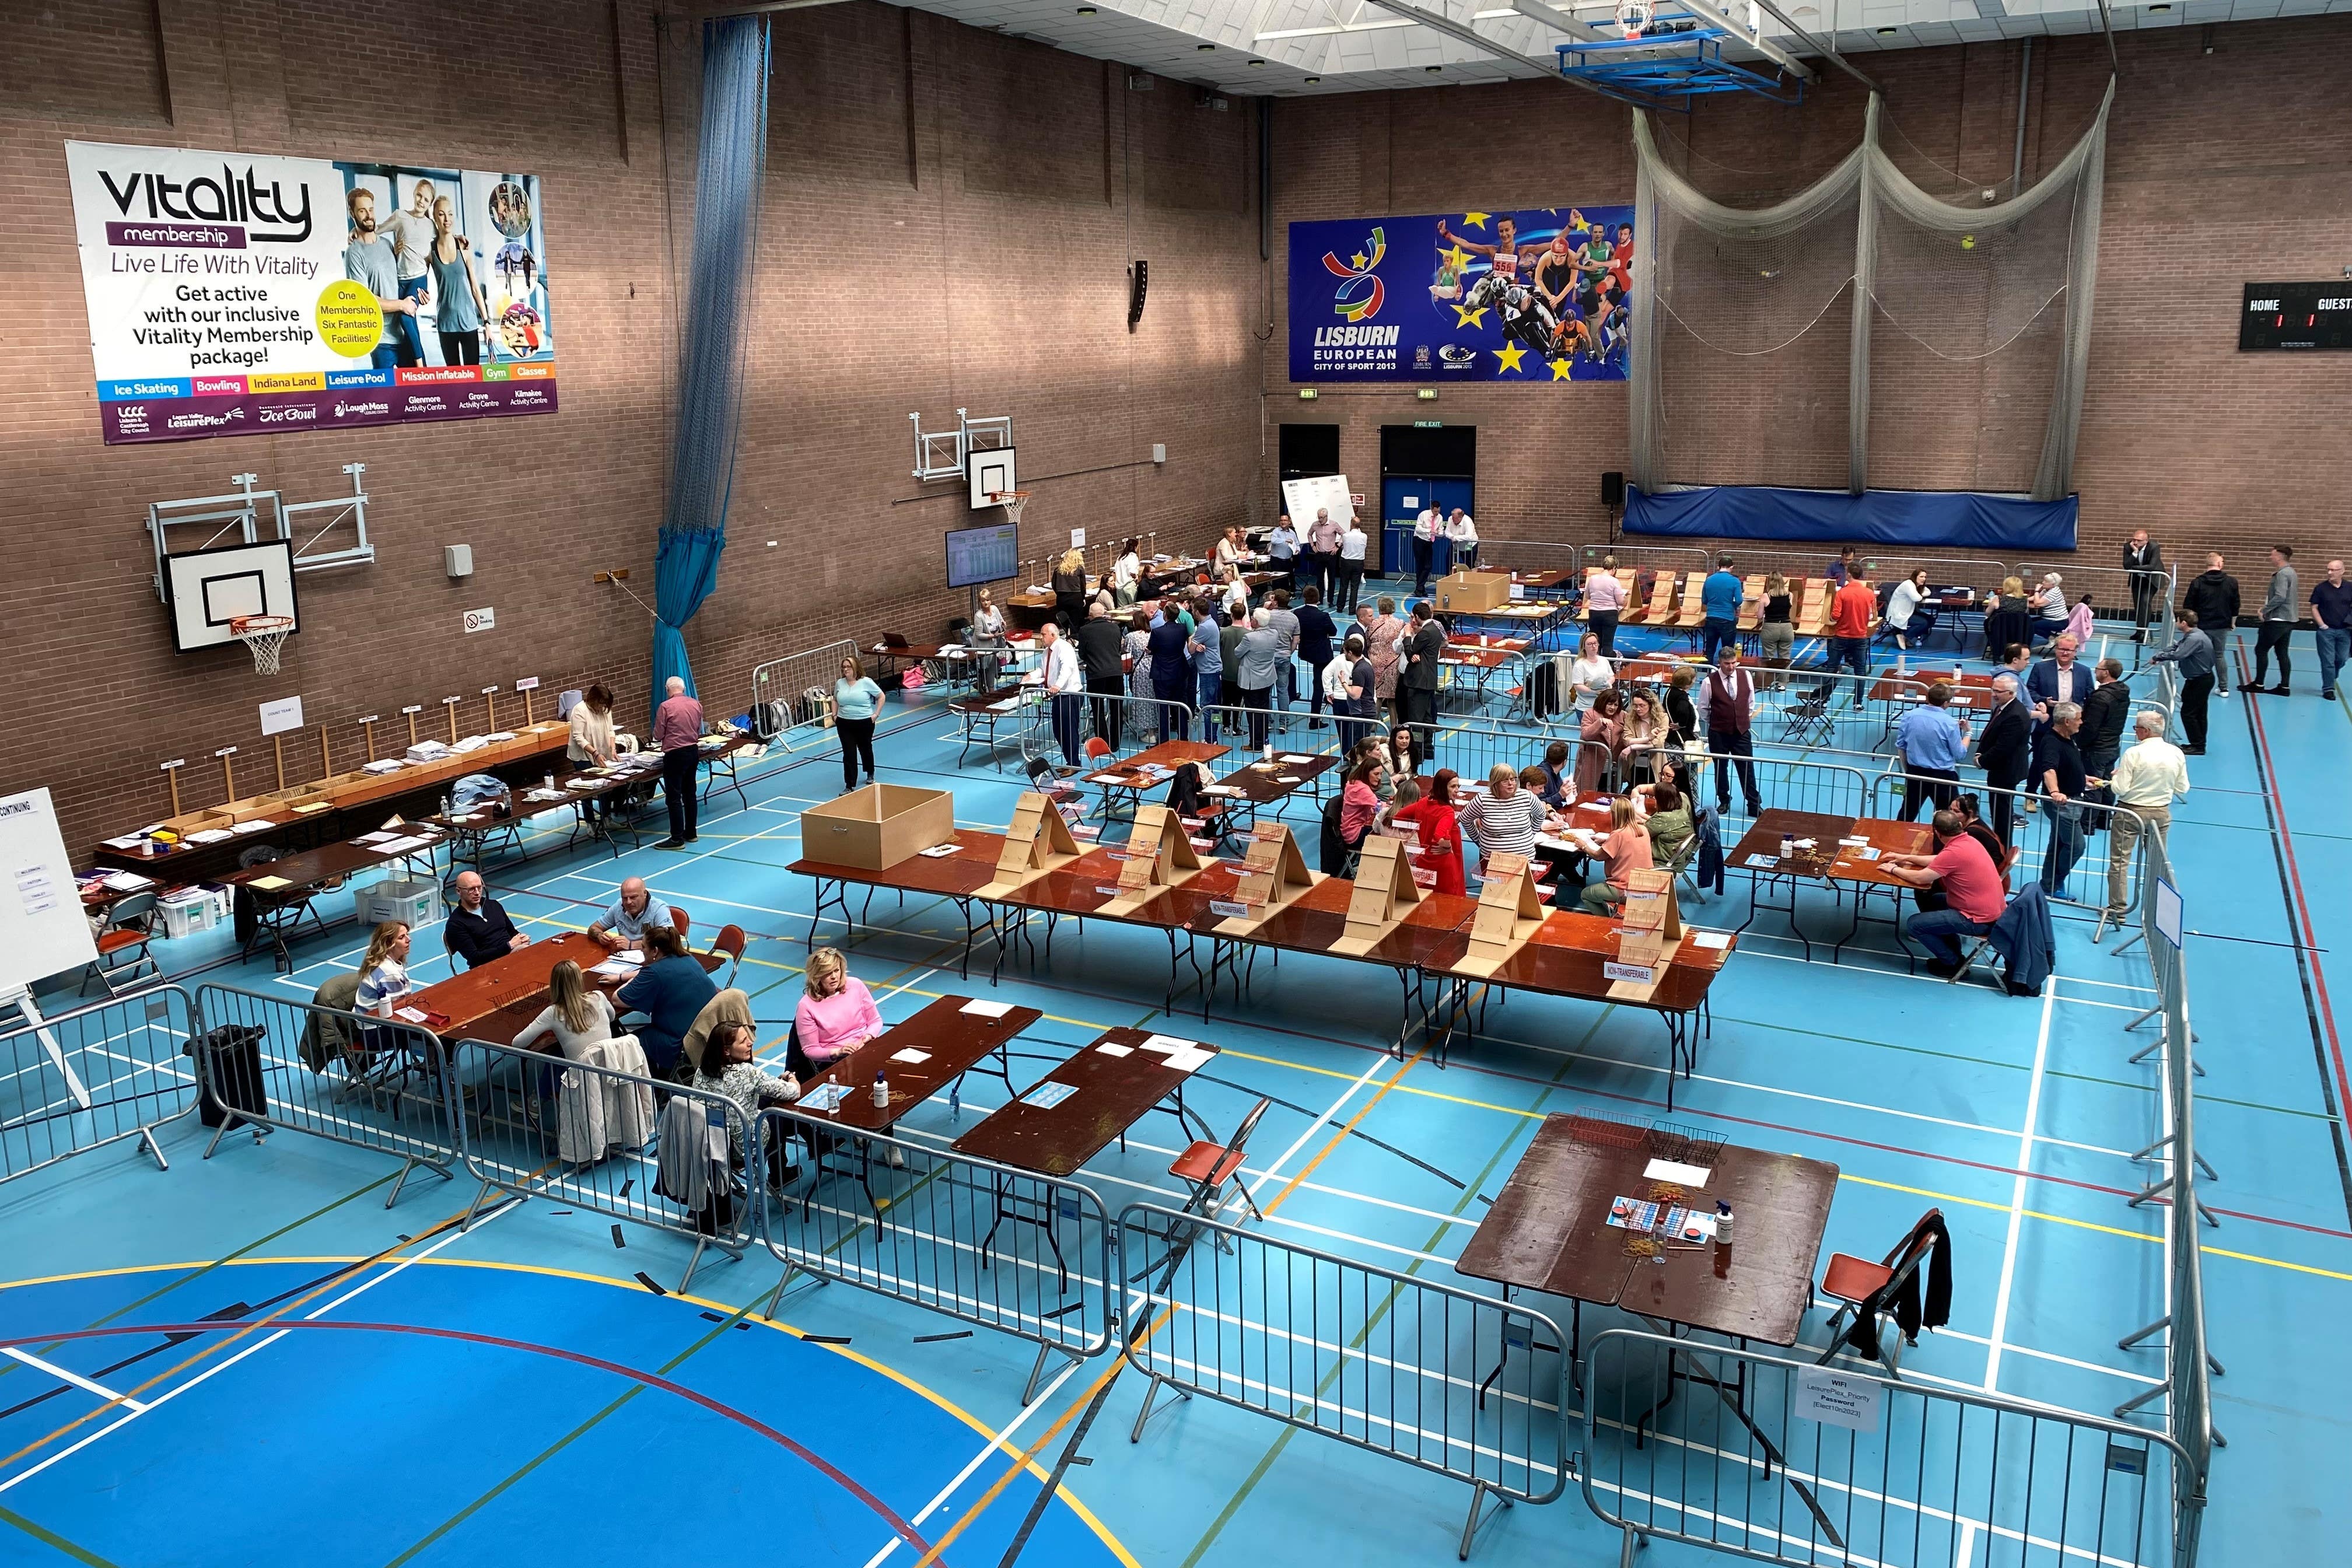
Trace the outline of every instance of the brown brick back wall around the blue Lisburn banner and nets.
<path fill-rule="evenodd" d="M 2352 263 L 2352 115 L 2331 66 L 2352 49 L 2352 19 L 2161 28 L 2124 33 L 2117 47 L 2124 73 L 2107 136 L 2074 559 L 2112 567 L 2129 531 L 2147 527 L 2187 571 L 2220 548 L 2241 581 L 2258 581 L 2263 548 L 2277 538 L 2314 562 L 2310 578 L 2345 548 L 2352 355 L 2239 355 L 2237 313 L 2249 280 L 2336 277 Z M 1884 141 L 1907 174 L 1938 195 L 2006 183 L 2018 45 L 1865 63 L 1886 87 L 1900 136 Z M 2034 40 L 2027 181 L 2079 136 L 2105 71 L 2098 38 Z M 1849 150 L 1863 106 L 1863 89 L 1825 68 L 1804 106 L 1722 96 L 1665 129 L 1689 148 L 1691 179 L 1724 200 L 1762 202 L 1795 183 L 1776 172 L 1818 174 Z M 1275 134 L 1275 277 L 1287 268 L 1289 221 L 1632 200 L 1628 110 L 1559 82 L 1282 103 Z M 1279 299 L 1275 310 L 1279 320 Z M 1839 303 L 1813 334 L 1820 343 L 1776 362 L 1771 376 L 1684 388 L 1705 393 L 1698 407 L 1712 437 L 1700 454 L 1708 468 L 1693 477 L 1755 480 L 1762 454 L 1778 451 L 1795 477 L 1844 482 L 1844 315 Z M 1597 475 L 1625 468 L 1623 386 L 1446 386 L 1435 407 L 1414 402 L 1411 386 L 1324 388 L 1301 404 L 1284 343 L 1287 320 L 1263 353 L 1270 418 L 1338 421 L 1341 461 L 1362 489 L 1376 491 L 1381 425 L 1435 414 L 1479 428 L 1482 534 L 1606 536 Z M 2046 404 L 2027 390 L 2049 364 L 2039 331 L 1983 364 L 1936 360 L 1884 324 L 1877 346 L 1877 484 L 2023 484 L 2020 461 L 2039 451 Z M 1268 458 L 1261 489 L 1272 477 Z"/>

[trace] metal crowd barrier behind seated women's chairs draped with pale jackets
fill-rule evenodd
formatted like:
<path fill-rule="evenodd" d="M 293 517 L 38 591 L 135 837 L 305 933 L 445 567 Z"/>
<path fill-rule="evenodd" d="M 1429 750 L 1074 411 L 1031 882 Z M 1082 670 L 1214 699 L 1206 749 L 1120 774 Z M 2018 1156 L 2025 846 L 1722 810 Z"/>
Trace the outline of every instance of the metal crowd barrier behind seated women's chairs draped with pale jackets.
<path fill-rule="evenodd" d="M 741 1168 L 750 1128 L 734 1100 L 487 1039 L 449 1051 L 468 1074 L 480 1065 L 459 1154 L 482 1187 L 459 1229 L 496 1187 L 691 1241 L 680 1291 L 694 1284 L 703 1248 L 743 1260 L 757 1197 Z M 663 1150 L 680 1103 L 699 1112 L 701 1147 Z"/>

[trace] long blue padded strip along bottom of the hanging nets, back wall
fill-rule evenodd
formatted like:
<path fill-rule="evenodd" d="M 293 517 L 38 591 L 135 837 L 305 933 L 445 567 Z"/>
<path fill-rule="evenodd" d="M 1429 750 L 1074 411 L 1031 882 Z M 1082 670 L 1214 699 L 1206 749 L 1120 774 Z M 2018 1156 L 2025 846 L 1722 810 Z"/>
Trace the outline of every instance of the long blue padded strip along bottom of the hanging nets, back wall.
<path fill-rule="evenodd" d="M 1625 487 L 1625 531 L 1684 538 L 1792 538 L 1919 550 L 2072 550 L 2077 496 L 2027 501 L 1964 489 Z"/>

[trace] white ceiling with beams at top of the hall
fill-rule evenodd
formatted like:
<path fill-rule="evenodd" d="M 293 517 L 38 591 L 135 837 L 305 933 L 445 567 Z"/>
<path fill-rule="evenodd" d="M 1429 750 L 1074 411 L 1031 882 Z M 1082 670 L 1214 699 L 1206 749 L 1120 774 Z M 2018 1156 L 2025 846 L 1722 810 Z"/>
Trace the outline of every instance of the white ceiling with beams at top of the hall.
<path fill-rule="evenodd" d="M 891 0 L 906 5 L 908 0 Z M 1388 7 L 1444 16 L 1503 54 L 1472 45 Z M 1757 63 L 1771 52 L 1835 71 L 1750 0 L 1722 5 L 1740 24 L 1762 24 L 1759 38 L 1726 40 L 1724 54 Z M 2096 33 L 2096 0 L 1776 0 L 1813 38 L 1830 42 L 1867 71 L 1879 49 Z M 1435 87 L 1439 82 L 1501 82 L 1550 75 L 1555 45 L 1571 35 L 1550 21 L 1519 14 L 1512 0 L 922 0 L 917 9 L 1037 42 L 1120 61 L 1176 82 L 1235 94 L 1294 96 Z M 1524 9 L 1573 16 L 1599 35 L 1616 35 L 1616 0 L 1524 0 Z M 1658 0 L 1675 14 L 1677 0 Z M 2117 5 L 2114 31 L 2317 16 L 2352 9 L 2352 0 L 2173 0 Z M 1752 19 L 1752 21 L 1750 21 Z M 1771 68 L 1766 63 L 1766 68 Z"/>

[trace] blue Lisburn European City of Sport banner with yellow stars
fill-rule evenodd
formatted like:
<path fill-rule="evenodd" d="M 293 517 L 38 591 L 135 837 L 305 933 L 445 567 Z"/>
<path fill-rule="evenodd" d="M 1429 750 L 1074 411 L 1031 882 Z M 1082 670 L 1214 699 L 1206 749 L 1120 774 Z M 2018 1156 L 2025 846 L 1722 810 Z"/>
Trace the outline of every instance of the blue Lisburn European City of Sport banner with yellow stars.
<path fill-rule="evenodd" d="M 1632 207 L 1291 223 L 1291 381 L 1623 381 Z"/>

